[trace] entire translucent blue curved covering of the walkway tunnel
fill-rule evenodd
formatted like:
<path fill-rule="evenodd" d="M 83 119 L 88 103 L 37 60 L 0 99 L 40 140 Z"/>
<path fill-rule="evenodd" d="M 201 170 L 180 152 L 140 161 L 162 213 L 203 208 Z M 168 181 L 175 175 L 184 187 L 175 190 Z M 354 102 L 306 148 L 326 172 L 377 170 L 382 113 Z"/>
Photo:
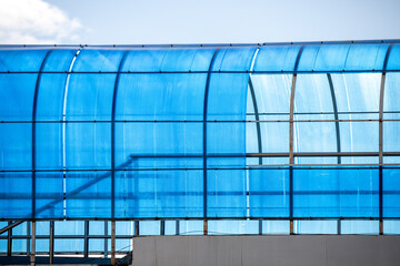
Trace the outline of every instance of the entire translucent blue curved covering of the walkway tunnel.
<path fill-rule="evenodd" d="M 397 41 L 0 47 L 0 219 L 400 217 L 399 71 Z"/>

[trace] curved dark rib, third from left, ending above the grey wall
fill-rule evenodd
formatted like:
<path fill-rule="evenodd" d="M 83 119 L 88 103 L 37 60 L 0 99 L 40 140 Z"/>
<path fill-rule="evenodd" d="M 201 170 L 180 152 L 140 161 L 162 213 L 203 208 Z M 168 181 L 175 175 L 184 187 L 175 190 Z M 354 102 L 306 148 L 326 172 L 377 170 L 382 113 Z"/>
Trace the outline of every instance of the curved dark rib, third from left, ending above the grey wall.
<path fill-rule="evenodd" d="M 203 126 L 202 126 L 202 131 L 203 131 L 203 137 L 202 137 L 202 146 L 203 146 L 203 218 L 204 218 L 204 224 L 207 224 L 207 111 L 208 111 L 208 98 L 209 98 L 209 90 L 210 90 L 210 83 L 211 83 L 211 71 L 212 71 L 212 66 L 214 64 L 217 54 L 219 52 L 219 49 L 217 49 L 211 58 L 211 62 L 209 65 L 209 70 L 208 70 L 208 74 L 207 74 L 207 83 L 206 83 L 206 89 L 204 89 L 204 104 L 203 104 Z M 207 228 L 207 226 L 204 227 Z M 204 235 L 206 235 L 206 231 L 204 231 Z"/>

